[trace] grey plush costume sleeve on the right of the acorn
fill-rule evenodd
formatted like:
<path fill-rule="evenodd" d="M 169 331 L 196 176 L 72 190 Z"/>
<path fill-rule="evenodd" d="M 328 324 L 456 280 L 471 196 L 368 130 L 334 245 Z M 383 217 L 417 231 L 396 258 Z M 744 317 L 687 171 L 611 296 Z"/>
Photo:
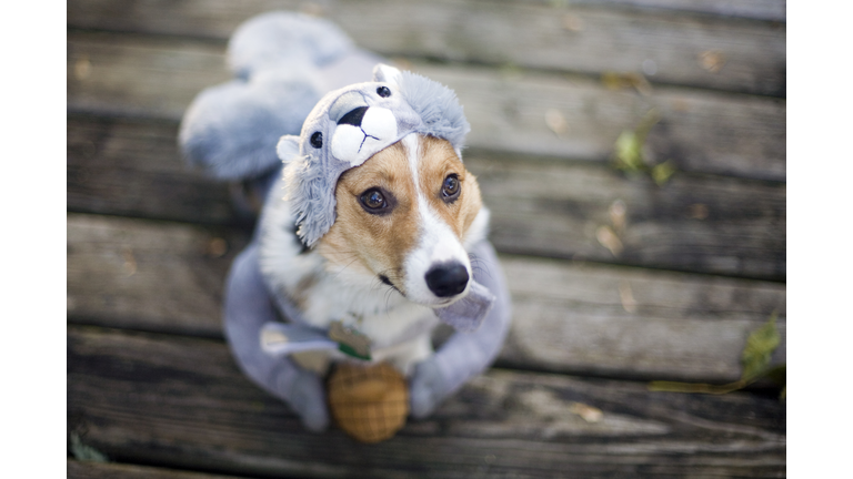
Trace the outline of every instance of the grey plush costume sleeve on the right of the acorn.
<path fill-rule="evenodd" d="M 465 381 L 485 370 L 503 345 L 512 316 L 510 293 L 492 245 L 480 242 L 470 252 L 474 279 L 495 296 L 480 328 L 456 332 L 429 359 L 415 366 L 411 380 L 412 416 L 423 418 Z"/>

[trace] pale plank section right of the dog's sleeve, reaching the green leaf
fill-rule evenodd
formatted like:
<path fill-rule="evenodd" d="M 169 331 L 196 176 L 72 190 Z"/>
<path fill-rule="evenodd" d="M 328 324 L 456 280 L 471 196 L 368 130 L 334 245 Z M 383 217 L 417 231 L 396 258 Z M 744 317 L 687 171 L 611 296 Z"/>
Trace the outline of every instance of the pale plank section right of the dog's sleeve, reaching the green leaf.
<path fill-rule="evenodd" d="M 785 286 L 503 256 L 513 299 L 503 365 L 571 374 L 732 381 L 773 310 L 784 363 Z"/>

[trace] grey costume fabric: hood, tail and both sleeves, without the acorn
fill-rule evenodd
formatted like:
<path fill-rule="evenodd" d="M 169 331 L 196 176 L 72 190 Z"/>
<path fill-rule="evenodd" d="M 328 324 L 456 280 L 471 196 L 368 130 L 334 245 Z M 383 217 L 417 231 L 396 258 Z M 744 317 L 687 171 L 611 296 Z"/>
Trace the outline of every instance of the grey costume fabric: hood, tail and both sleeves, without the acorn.
<path fill-rule="evenodd" d="M 283 175 L 299 205 L 299 234 L 313 245 L 334 222 L 333 191 L 344 170 L 411 132 L 444 137 L 458 152 L 463 146 L 469 126 L 453 92 L 408 72 L 388 78 L 391 70 L 374 69 L 380 61 L 324 20 L 272 12 L 247 21 L 229 43 L 235 79 L 202 91 L 184 114 L 179 141 L 187 161 L 217 179 L 249 181 L 267 202 L 280 201 L 268 193 Z M 373 82 L 358 83 L 371 75 Z M 410 377 L 415 417 L 484 370 L 509 329 L 509 293 L 494 251 L 480 242 L 469 253 L 478 258 L 471 294 L 436 310 L 459 333 Z M 322 378 L 261 347 L 265 325 L 282 316 L 300 322 L 260 273 L 257 233 L 231 267 L 223 314 L 243 373 L 293 407 L 309 429 L 325 428 Z"/>

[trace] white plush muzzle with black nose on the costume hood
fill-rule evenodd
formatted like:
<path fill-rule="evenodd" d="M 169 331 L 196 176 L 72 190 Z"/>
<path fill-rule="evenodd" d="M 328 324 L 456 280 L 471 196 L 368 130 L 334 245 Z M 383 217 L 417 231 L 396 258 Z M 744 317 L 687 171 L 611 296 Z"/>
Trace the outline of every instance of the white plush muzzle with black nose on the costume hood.
<path fill-rule="evenodd" d="M 391 110 L 358 106 L 338 120 L 332 134 L 332 156 L 358 166 L 395 137 L 397 119 Z"/>

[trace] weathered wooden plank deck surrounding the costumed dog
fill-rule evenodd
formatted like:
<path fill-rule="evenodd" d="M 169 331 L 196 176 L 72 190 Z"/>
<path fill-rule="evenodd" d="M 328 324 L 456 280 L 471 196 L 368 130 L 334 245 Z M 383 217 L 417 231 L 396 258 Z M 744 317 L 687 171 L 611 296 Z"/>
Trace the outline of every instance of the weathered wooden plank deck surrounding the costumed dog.
<path fill-rule="evenodd" d="M 305 432 L 222 338 L 252 218 L 175 137 L 229 79 L 233 29 L 272 9 L 450 85 L 473 129 L 512 330 L 380 445 Z M 652 109 L 648 151 L 676 170 L 660 186 L 611 159 Z M 73 0 L 67 167 L 70 478 L 785 476 L 779 390 L 648 388 L 737 379 L 774 310 L 785 361 L 784 1 Z"/>

